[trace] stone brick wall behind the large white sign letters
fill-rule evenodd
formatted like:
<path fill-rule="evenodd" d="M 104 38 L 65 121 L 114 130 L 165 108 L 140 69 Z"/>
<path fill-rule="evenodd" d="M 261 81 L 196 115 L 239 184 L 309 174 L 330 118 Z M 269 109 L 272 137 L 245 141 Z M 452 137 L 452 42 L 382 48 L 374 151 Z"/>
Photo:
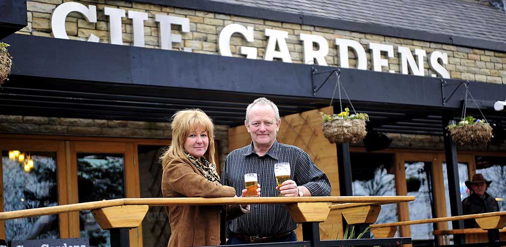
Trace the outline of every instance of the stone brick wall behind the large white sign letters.
<path fill-rule="evenodd" d="M 368 49 L 367 45 L 369 42 L 375 42 L 393 45 L 395 50 L 397 50 L 397 46 L 404 46 L 410 48 L 411 51 L 414 49 L 424 49 L 428 54 L 434 50 L 445 52 L 449 57 L 449 63 L 445 65 L 445 67 L 450 72 L 452 78 L 506 84 L 506 54 L 503 52 L 128 1 L 28 0 L 28 26 L 18 33 L 51 37 L 51 13 L 57 5 L 64 2 L 77 2 L 84 5 L 91 4 L 97 6 L 98 22 L 96 24 L 88 23 L 86 19 L 78 13 L 70 13 L 66 20 L 66 29 L 70 39 L 87 40 L 88 36 L 93 33 L 100 38 L 100 42 L 109 43 L 109 20 L 108 17 L 104 15 L 104 7 L 111 7 L 148 13 L 149 19 L 144 23 L 145 43 L 148 48 L 159 49 L 160 47 L 158 43 L 158 25 L 154 21 L 154 15 L 164 14 L 190 19 L 190 32 L 183 33 L 183 43 L 176 43 L 175 46 L 176 49 L 178 47 L 192 48 L 195 53 L 218 54 L 217 39 L 221 29 L 225 25 L 237 23 L 244 26 L 253 26 L 255 28 L 255 41 L 249 43 L 245 42 L 240 36 L 233 36 L 230 40 L 233 54 L 237 51 L 239 46 L 244 45 L 258 48 L 258 57 L 259 59 L 262 58 L 267 43 L 264 30 L 270 28 L 284 30 L 289 33 L 287 44 L 294 63 L 302 63 L 303 60 L 303 46 L 299 39 L 299 34 L 311 33 L 323 36 L 328 40 L 330 49 L 326 61 L 329 66 L 339 66 L 338 49 L 335 47 L 335 38 L 346 38 L 357 40 L 366 50 Z M 179 26 L 174 26 L 172 32 L 181 34 L 178 28 Z M 122 19 L 122 31 L 124 45 L 130 46 L 132 44 L 131 19 Z M 241 55 L 234 56 L 239 57 Z M 349 56 L 350 66 L 353 67 L 356 65 L 355 54 L 350 51 Z M 367 60 L 368 68 L 370 69 L 369 53 L 367 53 Z M 425 60 L 425 74 L 433 74 L 434 72 L 431 71 L 428 65 L 428 58 L 426 57 Z M 388 69 L 392 69 L 396 72 L 400 71 L 398 54 L 396 54 L 394 58 L 389 58 L 389 66 L 390 68 Z M 388 69 L 383 68 L 383 71 L 388 71 Z"/>

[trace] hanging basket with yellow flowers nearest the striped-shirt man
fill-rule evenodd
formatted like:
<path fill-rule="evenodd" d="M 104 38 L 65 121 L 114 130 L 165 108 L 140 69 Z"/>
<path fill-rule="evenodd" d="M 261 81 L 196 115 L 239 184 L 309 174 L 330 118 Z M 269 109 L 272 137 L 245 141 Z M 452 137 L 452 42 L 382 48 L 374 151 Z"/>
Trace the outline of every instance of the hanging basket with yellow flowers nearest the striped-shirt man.
<path fill-rule="evenodd" d="M 367 134 L 365 121 L 369 116 L 366 113 L 350 114 L 350 109 L 345 108 L 345 111 L 339 114 L 329 115 L 320 112 L 320 115 L 323 135 L 330 143 L 357 143 Z"/>

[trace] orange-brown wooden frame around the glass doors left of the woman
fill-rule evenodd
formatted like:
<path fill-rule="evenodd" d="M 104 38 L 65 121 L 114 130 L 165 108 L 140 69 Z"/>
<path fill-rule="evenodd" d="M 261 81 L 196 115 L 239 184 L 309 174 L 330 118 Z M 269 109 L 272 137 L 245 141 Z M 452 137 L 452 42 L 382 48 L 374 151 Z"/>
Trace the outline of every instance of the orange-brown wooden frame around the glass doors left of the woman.
<path fill-rule="evenodd" d="M 78 202 L 76 152 L 123 153 L 125 197 L 140 197 L 137 147 L 139 145 L 167 146 L 171 143 L 169 139 L 17 134 L 0 134 L 0 140 L 2 140 L 0 150 L 55 151 L 57 153 L 58 204 L 60 205 Z M 0 159 L 0 171 L 2 171 L 2 159 Z M 2 188 L 0 198 L 3 198 L 3 173 L 0 173 L 0 188 Z M 3 210 L 4 201 L 0 200 L 0 212 Z M 79 222 L 78 212 L 60 214 L 59 219 L 60 238 L 80 236 L 79 225 L 75 223 Z M 3 221 L 0 221 L 0 238 L 5 239 Z M 142 225 L 130 230 L 130 242 L 132 247 L 143 246 Z"/>

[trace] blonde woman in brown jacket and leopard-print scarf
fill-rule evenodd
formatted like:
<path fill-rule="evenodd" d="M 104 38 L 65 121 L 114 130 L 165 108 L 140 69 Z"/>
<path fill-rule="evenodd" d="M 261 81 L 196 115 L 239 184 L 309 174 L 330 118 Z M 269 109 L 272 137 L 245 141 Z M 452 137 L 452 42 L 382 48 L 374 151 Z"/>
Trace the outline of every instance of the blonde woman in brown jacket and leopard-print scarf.
<path fill-rule="evenodd" d="M 199 109 L 182 110 L 174 114 L 171 126 L 172 144 L 161 157 L 163 197 L 237 196 L 234 188 L 221 185 L 214 165 L 212 120 Z M 240 215 L 248 212 L 245 208 L 249 207 L 231 206 L 228 210 L 231 215 Z M 218 245 L 221 209 L 221 205 L 166 207 L 172 230 L 168 246 Z"/>

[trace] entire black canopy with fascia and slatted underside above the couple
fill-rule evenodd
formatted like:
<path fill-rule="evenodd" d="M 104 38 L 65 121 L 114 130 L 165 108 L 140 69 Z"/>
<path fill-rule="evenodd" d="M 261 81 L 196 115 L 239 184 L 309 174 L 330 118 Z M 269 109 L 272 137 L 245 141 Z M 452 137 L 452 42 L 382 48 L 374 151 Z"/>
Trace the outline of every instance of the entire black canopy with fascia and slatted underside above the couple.
<path fill-rule="evenodd" d="M 167 121 L 177 110 L 201 108 L 215 123 L 239 126 L 246 106 L 258 97 L 273 100 L 281 115 L 328 106 L 335 85 L 320 84 L 313 96 L 315 82 L 328 78 L 316 70 L 339 70 L 357 111 L 369 114 L 368 127 L 381 132 L 442 135 L 442 116 L 459 116 L 462 106 L 458 97 L 443 105 L 441 80 L 427 76 L 21 34 L 5 42 L 16 46 L 10 49 L 15 57 L 10 81 L 0 89 L 3 114 Z M 506 126 L 506 112 L 489 109 L 506 87 L 469 85 L 487 119 Z M 468 113 L 478 115 L 472 105 Z"/>

